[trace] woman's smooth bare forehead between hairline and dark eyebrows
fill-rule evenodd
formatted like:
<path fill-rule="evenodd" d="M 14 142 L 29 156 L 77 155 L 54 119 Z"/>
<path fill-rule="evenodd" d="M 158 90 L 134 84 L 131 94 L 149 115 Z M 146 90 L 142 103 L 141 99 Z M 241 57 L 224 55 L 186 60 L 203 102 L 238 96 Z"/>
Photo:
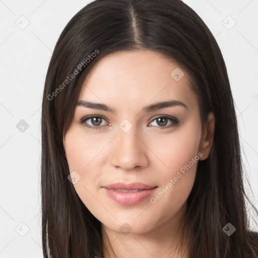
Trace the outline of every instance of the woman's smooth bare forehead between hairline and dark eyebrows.
<path fill-rule="evenodd" d="M 119 51 L 101 58 L 87 75 L 79 100 L 137 108 L 170 99 L 195 105 L 190 78 L 178 64 L 151 50 Z"/>

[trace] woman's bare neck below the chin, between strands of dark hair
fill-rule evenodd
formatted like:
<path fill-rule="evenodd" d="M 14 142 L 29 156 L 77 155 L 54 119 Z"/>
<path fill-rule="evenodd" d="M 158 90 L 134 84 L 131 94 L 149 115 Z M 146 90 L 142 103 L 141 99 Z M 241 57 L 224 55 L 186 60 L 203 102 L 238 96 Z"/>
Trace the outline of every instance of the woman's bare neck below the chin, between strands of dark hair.
<path fill-rule="evenodd" d="M 178 249 L 185 210 L 186 204 L 165 223 L 141 234 L 124 235 L 102 224 L 104 258 L 183 258 Z"/>

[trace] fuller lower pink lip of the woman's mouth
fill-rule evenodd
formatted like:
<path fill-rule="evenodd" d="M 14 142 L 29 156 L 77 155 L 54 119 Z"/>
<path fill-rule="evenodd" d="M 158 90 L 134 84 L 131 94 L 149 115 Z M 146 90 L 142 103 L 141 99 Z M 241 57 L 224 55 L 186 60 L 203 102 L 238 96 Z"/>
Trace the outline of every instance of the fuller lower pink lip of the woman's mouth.
<path fill-rule="evenodd" d="M 104 187 L 109 198 L 121 205 L 135 205 L 148 198 L 158 186 L 151 189 L 144 189 L 136 192 L 120 192 Z"/>

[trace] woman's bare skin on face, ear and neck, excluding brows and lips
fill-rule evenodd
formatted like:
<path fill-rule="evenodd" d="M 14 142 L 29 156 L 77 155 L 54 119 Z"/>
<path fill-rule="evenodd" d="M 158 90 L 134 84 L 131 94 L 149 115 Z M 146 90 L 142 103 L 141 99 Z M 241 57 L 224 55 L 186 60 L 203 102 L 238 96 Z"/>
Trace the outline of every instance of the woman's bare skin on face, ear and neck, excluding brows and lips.
<path fill-rule="evenodd" d="M 184 73 L 179 81 L 170 75 L 175 68 Z M 210 113 L 202 131 L 198 99 L 189 87 L 190 81 L 176 62 L 151 50 L 109 54 L 85 79 L 78 101 L 104 103 L 117 113 L 77 106 L 63 144 L 70 172 L 75 170 L 81 176 L 74 187 L 102 224 L 105 258 L 115 257 L 112 249 L 117 257 L 183 257 L 175 247 L 198 161 L 181 173 L 155 204 L 150 198 L 155 198 L 192 158 L 204 160 L 209 156 L 215 118 Z M 172 99 L 188 108 L 142 111 L 147 105 Z M 88 115 L 104 116 L 99 123 L 87 120 L 91 126 L 101 124 L 101 130 L 90 130 L 86 122 L 80 123 Z M 179 124 L 163 128 L 173 123 L 169 119 L 159 122 L 157 118 L 164 115 L 176 117 Z M 133 126 L 126 133 L 119 127 L 124 119 Z M 124 206 L 106 196 L 102 187 L 120 181 L 158 188 L 140 204 Z M 119 229 L 124 223 L 130 226 L 129 234 Z"/>

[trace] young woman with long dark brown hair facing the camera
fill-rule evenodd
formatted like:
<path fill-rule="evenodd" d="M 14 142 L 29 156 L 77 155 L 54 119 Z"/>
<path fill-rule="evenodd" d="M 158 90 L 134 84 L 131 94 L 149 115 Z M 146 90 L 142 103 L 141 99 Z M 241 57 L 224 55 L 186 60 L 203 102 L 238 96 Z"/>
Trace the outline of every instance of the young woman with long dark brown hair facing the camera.
<path fill-rule="evenodd" d="M 225 62 L 179 0 L 72 18 L 46 76 L 41 170 L 44 257 L 258 256 Z"/>

